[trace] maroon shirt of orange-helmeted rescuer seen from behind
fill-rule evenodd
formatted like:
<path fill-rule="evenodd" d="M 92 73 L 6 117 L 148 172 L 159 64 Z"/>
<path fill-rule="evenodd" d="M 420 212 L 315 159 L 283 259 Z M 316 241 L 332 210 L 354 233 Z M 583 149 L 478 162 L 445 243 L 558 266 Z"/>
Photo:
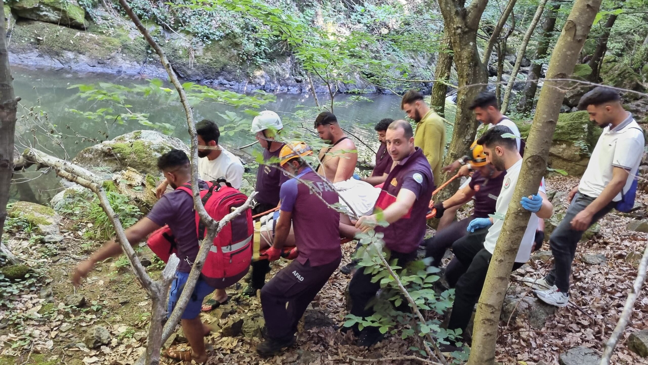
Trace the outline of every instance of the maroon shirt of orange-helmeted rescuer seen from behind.
<path fill-rule="evenodd" d="M 310 168 L 305 168 L 299 180 L 310 182 L 321 198 L 329 205 L 337 204 L 338 193 L 319 178 Z M 322 202 L 305 183 L 292 178 L 281 185 L 281 210 L 292 212 L 292 228 L 301 265 L 326 265 L 340 258 L 340 213 Z"/>

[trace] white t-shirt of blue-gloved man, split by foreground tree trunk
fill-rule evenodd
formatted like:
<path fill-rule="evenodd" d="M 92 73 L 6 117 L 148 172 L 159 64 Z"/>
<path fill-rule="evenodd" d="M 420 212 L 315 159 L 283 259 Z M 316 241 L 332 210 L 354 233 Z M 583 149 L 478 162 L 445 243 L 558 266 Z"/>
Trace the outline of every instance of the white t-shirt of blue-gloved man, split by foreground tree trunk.
<path fill-rule="evenodd" d="M 509 209 L 509 203 L 511 198 L 513 198 L 513 191 L 515 191 L 515 186 L 518 184 L 518 176 L 520 175 L 520 169 L 522 169 L 522 159 L 517 161 L 515 165 L 509 167 L 506 171 L 506 176 L 504 182 L 502 183 L 502 190 L 500 191 L 500 196 L 497 198 L 495 204 L 495 214 L 492 218 L 493 224 L 489 228 L 486 235 L 486 241 L 484 241 L 484 248 L 488 252 L 493 253 L 495 250 L 495 244 L 497 239 L 500 238 L 500 232 L 502 231 L 502 224 L 504 223 L 504 217 L 506 212 Z M 546 193 L 544 190 L 544 178 L 540 182 L 540 188 L 538 193 Z M 531 218 L 529 218 L 529 224 L 527 224 L 527 229 L 524 231 L 524 237 L 522 237 L 522 242 L 520 242 L 520 248 L 518 249 L 518 255 L 515 257 L 516 263 L 526 263 L 529 261 L 531 256 L 531 248 L 533 247 L 533 239 L 535 239 L 535 231 L 538 229 L 538 216 L 535 213 L 531 213 Z"/>

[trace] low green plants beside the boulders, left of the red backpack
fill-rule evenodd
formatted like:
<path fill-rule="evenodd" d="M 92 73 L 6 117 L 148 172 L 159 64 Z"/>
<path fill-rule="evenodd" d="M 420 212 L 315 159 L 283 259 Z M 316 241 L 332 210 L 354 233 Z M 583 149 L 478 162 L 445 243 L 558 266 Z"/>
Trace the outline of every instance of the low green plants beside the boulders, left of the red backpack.
<path fill-rule="evenodd" d="M 141 217 L 142 212 L 137 206 L 130 204 L 128 196 L 115 191 L 106 191 L 106 196 L 123 228 L 132 226 Z M 67 202 L 61 208 L 61 212 L 86 223 L 87 231 L 84 233 L 84 237 L 88 239 L 108 240 L 115 235 L 113 225 L 96 197 L 89 204 L 76 200 Z"/>

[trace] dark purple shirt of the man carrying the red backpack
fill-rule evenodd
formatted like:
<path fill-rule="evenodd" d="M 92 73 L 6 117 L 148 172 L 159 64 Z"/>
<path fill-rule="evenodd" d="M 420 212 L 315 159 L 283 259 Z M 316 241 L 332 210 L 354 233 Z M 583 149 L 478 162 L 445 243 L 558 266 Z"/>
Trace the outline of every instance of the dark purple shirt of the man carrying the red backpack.
<path fill-rule="evenodd" d="M 200 188 L 207 189 L 207 183 L 200 180 Z M 146 215 L 158 226 L 165 226 L 173 232 L 178 242 L 179 272 L 191 272 L 191 265 L 196 260 L 198 250 L 198 232 L 196 232 L 196 211 L 191 195 L 182 190 L 164 194 Z"/>

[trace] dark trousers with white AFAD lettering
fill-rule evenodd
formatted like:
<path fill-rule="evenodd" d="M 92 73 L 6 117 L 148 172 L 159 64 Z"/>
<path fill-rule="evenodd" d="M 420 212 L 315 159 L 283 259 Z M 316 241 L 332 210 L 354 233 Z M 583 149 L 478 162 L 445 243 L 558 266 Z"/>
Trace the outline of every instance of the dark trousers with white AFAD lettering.
<path fill-rule="evenodd" d="M 293 260 L 268 281 L 261 289 L 261 307 L 270 338 L 283 340 L 295 334 L 308 304 L 338 269 L 341 259 L 319 266 Z"/>

